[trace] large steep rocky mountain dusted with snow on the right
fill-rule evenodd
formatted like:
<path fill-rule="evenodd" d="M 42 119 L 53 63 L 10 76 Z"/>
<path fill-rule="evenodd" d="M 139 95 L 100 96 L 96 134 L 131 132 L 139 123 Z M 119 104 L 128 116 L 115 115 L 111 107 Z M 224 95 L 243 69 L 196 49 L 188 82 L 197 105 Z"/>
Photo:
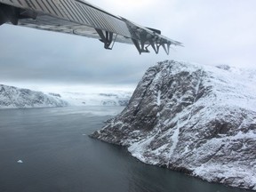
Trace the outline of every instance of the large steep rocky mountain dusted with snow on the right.
<path fill-rule="evenodd" d="M 92 137 L 147 164 L 256 190 L 256 72 L 166 60 Z"/>

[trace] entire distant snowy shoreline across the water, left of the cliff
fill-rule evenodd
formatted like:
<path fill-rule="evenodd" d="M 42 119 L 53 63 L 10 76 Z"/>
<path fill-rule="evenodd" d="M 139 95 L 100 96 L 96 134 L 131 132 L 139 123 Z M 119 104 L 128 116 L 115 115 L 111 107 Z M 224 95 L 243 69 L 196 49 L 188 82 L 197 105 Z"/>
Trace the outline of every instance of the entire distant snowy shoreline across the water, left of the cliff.
<path fill-rule="evenodd" d="M 35 92 L 0 84 L 0 108 L 126 106 L 132 92 Z"/>

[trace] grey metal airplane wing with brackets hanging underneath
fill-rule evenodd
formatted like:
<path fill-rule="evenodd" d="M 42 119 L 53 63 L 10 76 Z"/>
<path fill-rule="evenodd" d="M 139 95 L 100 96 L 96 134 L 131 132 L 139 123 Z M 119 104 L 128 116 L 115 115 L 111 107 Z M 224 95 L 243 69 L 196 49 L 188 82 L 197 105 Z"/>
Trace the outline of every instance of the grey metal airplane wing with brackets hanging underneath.
<path fill-rule="evenodd" d="M 4 23 L 96 38 L 106 49 L 119 42 L 134 44 L 140 53 L 151 46 L 156 53 L 163 47 L 169 54 L 171 45 L 182 45 L 160 30 L 141 27 L 83 0 L 0 0 L 0 25 Z"/>

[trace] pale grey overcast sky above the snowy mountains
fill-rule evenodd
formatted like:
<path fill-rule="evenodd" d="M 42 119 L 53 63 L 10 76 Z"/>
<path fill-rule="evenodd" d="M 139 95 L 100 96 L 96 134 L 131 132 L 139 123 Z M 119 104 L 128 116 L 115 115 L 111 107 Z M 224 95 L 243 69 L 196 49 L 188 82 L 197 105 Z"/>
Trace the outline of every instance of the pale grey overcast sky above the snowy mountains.
<path fill-rule="evenodd" d="M 93 0 L 90 3 L 158 28 L 180 41 L 173 47 L 140 55 L 131 44 L 105 50 L 95 39 L 60 33 L 0 27 L 0 84 L 40 88 L 60 85 L 132 87 L 160 60 L 256 68 L 255 0 Z"/>

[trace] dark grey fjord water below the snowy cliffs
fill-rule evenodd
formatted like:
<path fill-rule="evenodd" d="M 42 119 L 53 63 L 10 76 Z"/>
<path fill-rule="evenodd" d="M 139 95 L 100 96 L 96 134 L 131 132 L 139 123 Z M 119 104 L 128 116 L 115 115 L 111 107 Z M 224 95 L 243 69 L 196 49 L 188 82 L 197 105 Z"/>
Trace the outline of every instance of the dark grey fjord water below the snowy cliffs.
<path fill-rule="evenodd" d="M 121 109 L 0 110 L 0 192 L 243 191 L 142 164 L 87 136 Z"/>

